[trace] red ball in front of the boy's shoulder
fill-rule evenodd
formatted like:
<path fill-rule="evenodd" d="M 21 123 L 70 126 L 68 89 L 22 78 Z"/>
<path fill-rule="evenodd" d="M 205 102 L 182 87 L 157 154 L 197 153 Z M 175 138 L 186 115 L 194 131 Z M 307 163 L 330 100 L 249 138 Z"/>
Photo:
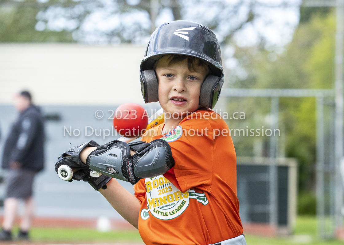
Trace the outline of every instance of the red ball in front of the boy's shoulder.
<path fill-rule="evenodd" d="M 148 124 L 148 113 L 135 103 L 125 103 L 114 113 L 114 127 L 120 136 L 137 137 Z"/>

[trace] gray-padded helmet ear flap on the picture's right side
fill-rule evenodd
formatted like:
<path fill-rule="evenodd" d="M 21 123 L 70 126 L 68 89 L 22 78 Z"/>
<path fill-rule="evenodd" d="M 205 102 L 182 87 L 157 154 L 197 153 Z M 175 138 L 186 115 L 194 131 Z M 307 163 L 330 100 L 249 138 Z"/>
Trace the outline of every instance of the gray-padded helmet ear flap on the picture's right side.
<path fill-rule="evenodd" d="M 221 77 L 208 75 L 201 87 L 199 104 L 203 107 L 213 109 L 217 99 L 218 90 L 221 90 Z M 219 86 L 220 85 L 220 86 Z"/>

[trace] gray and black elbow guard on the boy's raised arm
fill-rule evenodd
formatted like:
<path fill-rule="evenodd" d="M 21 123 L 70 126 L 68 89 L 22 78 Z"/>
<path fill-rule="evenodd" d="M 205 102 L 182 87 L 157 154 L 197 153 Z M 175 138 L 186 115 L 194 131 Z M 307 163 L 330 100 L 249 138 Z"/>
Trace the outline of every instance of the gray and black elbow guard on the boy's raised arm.
<path fill-rule="evenodd" d="M 136 154 L 130 156 L 130 150 Z M 136 184 L 140 179 L 166 173 L 174 160 L 170 145 L 164 140 L 129 144 L 115 140 L 97 147 L 86 164 L 91 170 Z"/>

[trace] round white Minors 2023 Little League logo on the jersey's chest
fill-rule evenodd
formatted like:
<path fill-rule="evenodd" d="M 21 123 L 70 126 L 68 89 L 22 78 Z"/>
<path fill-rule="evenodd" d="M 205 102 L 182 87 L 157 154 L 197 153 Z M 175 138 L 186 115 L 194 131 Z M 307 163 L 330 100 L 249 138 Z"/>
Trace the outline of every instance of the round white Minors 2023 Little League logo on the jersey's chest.
<path fill-rule="evenodd" d="M 147 209 L 155 218 L 174 219 L 189 206 L 189 192 L 182 193 L 162 175 L 146 178 L 146 191 Z"/>

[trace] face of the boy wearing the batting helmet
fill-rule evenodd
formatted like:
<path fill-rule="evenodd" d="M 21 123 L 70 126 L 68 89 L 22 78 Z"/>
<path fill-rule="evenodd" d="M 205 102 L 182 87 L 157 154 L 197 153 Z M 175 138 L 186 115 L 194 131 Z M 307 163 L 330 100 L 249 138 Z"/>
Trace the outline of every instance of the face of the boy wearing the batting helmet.
<path fill-rule="evenodd" d="M 171 113 L 171 117 L 186 116 L 199 107 L 201 87 L 207 71 L 197 67 L 191 71 L 187 67 L 187 59 L 168 65 L 168 56 L 158 61 L 155 73 L 158 78 L 159 103 L 164 112 Z M 174 113 L 174 115 L 172 115 Z"/>

